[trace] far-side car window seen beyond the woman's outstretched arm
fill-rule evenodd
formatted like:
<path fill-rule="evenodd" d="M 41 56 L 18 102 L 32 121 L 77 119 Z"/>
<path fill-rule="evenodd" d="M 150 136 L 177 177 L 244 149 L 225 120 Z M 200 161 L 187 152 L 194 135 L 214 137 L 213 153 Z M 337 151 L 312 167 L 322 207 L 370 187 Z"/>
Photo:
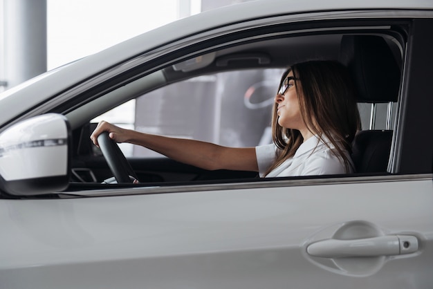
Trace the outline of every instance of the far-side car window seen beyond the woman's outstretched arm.
<path fill-rule="evenodd" d="M 248 69 L 193 77 L 146 93 L 92 120 L 228 147 L 272 142 L 270 118 L 283 68 Z M 120 144 L 125 156 L 160 156 Z"/>

